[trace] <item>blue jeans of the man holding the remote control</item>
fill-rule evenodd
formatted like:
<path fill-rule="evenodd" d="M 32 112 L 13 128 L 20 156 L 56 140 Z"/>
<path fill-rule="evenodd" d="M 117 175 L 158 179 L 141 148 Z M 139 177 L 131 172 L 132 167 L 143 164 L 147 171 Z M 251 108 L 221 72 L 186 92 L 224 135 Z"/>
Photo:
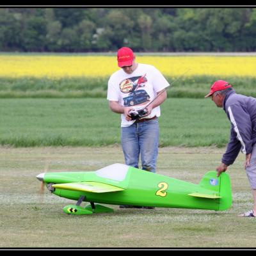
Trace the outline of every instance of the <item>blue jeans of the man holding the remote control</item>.
<path fill-rule="evenodd" d="M 158 154 L 159 125 L 158 120 L 134 123 L 121 128 L 121 144 L 125 164 L 139 168 L 141 154 L 142 170 L 156 172 Z"/>

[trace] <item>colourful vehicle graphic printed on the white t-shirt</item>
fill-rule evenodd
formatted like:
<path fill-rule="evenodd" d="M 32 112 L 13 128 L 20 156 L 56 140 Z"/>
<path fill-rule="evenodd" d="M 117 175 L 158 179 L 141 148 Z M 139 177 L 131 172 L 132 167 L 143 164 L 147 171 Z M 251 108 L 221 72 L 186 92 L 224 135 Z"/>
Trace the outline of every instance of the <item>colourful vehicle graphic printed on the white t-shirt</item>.
<path fill-rule="evenodd" d="M 125 97 L 124 106 L 135 106 L 150 100 L 150 96 L 145 90 L 138 90 L 147 83 L 146 74 L 144 76 L 136 76 L 124 79 L 120 84 L 120 90 L 122 93 L 129 93 L 128 97 Z"/>

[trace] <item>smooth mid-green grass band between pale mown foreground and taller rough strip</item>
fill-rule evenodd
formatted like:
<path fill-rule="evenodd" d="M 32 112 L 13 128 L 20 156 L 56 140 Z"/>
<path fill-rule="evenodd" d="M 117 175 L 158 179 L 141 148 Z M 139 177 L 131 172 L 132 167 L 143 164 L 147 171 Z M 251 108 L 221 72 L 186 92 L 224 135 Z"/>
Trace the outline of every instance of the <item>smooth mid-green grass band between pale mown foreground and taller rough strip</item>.
<path fill-rule="evenodd" d="M 159 118 L 160 147 L 223 147 L 230 123 L 211 99 L 167 99 Z M 120 143 L 120 115 L 106 99 L 2 99 L 0 144 L 13 147 Z"/>

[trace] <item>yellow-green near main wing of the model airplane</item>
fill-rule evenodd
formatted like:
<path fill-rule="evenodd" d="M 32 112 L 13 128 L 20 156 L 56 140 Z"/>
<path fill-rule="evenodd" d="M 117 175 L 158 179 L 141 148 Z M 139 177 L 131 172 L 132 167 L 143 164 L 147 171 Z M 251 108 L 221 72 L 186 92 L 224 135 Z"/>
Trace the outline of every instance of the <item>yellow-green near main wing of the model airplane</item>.
<path fill-rule="evenodd" d="M 67 189 L 74 191 L 85 191 L 93 193 L 106 193 L 114 191 L 122 191 L 123 188 L 119 188 L 113 185 L 105 184 L 102 182 L 86 181 L 86 182 L 71 182 L 63 184 L 54 184 L 52 188 Z"/>

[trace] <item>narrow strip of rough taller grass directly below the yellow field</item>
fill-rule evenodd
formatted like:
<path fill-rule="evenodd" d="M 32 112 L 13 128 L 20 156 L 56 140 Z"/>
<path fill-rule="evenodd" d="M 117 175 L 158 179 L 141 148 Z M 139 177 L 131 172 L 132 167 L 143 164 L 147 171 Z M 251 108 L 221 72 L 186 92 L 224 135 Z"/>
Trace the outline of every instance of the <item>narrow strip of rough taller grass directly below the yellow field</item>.
<path fill-rule="evenodd" d="M 0 98 L 106 98 L 109 77 L 0 77 Z M 168 97 L 202 99 L 214 81 L 223 79 L 237 93 L 256 97 L 256 77 L 166 76 L 172 86 Z M 177 80 L 176 80 L 177 79 Z"/>

